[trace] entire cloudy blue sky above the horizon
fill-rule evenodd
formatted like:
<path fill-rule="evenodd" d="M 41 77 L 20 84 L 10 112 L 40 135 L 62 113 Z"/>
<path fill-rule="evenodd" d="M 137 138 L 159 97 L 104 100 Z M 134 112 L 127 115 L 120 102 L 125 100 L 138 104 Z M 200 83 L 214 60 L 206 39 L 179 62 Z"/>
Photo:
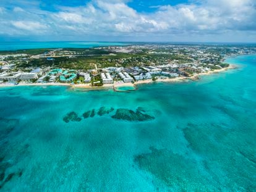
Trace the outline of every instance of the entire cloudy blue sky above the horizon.
<path fill-rule="evenodd" d="M 256 42 L 255 0 L 1 0 L 0 41 Z"/>

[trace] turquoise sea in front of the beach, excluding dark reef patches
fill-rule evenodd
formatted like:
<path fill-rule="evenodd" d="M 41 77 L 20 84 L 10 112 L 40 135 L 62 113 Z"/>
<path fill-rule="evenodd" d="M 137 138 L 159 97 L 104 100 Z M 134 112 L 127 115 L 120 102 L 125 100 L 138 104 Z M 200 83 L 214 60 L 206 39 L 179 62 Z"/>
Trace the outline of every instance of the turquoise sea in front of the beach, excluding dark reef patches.
<path fill-rule="evenodd" d="M 256 56 L 228 62 L 239 69 L 130 93 L 1 88 L 0 191 L 255 191 Z M 102 106 L 115 110 L 83 119 Z M 155 119 L 111 118 L 137 107 Z"/>

